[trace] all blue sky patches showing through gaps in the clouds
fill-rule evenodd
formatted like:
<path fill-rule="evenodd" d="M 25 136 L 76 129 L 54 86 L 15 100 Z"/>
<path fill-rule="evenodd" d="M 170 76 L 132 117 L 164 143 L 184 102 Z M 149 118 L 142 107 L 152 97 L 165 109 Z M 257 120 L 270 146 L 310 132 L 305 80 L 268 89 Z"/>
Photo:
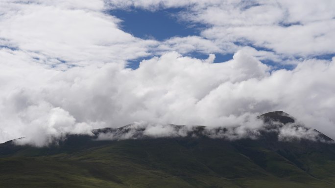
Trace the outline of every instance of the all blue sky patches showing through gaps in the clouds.
<path fill-rule="evenodd" d="M 259 6 L 259 4 L 257 4 Z M 247 6 L 250 8 L 252 6 Z M 157 41 L 165 41 L 173 37 L 187 37 L 187 36 L 199 36 L 200 32 L 203 29 L 208 28 L 209 26 L 202 23 L 195 22 L 187 22 L 185 20 L 181 20 L 179 18 L 179 13 L 182 11 L 186 11 L 185 8 L 167 8 L 160 11 L 155 10 L 145 10 L 141 8 L 128 8 L 128 9 L 113 9 L 107 11 L 108 14 L 113 15 L 122 20 L 120 23 L 120 28 L 132 34 L 135 37 L 143 38 L 143 39 L 153 39 Z M 178 19 L 179 18 L 179 19 Z M 284 27 L 289 27 L 292 25 L 300 25 L 299 22 L 293 23 L 279 23 Z M 258 51 L 268 51 L 274 52 L 273 50 L 266 48 L 255 46 L 252 43 L 246 42 L 235 42 L 239 46 L 250 46 Z M 215 54 L 214 63 L 222 63 L 229 61 L 233 58 L 234 53 L 212 53 Z M 190 52 L 185 55 L 198 58 L 198 59 L 207 59 L 208 53 L 201 52 Z M 334 53 L 321 54 L 321 55 L 310 55 L 310 58 L 323 59 L 323 60 L 331 60 L 334 56 Z M 139 63 L 142 60 L 152 58 L 152 55 L 132 59 L 128 62 L 128 67 L 132 69 L 137 69 L 139 67 Z M 296 59 L 299 60 L 303 57 L 291 56 L 290 58 L 284 58 L 286 60 Z M 290 63 L 280 63 L 278 61 L 273 61 L 271 59 L 263 60 L 263 63 L 268 64 L 273 67 L 274 70 L 285 68 L 287 70 L 292 70 L 295 67 L 295 64 Z"/>

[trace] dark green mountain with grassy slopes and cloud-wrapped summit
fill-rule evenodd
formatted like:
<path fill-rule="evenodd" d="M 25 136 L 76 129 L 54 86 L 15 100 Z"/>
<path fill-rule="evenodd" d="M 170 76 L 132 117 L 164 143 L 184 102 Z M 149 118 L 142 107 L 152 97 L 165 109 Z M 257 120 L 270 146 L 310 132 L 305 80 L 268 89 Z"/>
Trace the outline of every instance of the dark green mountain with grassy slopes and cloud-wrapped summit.
<path fill-rule="evenodd" d="M 8 141 L 0 144 L 0 187 L 335 187 L 331 138 L 282 111 L 258 118 L 264 125 L 239 139 L 226 137 L 236 127 L 184 131 L 186 126 L 169 125 L 174 136 L 150 137 L 143 126 L 126 125 L 95 129 L 93 136 L 67 135 L 48 147 Z"/>

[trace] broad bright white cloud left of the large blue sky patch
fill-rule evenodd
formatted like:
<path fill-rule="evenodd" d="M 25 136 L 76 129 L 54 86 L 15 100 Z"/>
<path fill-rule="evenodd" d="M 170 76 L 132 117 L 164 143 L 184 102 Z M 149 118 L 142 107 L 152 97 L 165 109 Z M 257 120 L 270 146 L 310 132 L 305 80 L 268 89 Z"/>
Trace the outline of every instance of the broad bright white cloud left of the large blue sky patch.
<path fill-rule="evenodd" d="M 61 4 L 70 3 L 65 2 L 69 1 Z M 7 8 L 0 18 L 2 45 L 35 53 L 36 61 L 50 67 L 122 63 L 148 55 L 148 48 L 156 45 L 123 32 L 119 19 L 100 11 L 55 6 L 51 1 L 2 4 Z"/>

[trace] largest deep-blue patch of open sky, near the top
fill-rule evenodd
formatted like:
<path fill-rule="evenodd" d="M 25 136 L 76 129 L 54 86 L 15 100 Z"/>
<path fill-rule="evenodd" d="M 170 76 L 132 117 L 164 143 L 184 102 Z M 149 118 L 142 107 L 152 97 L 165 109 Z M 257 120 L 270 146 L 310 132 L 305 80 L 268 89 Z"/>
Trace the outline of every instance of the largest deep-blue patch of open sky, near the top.
<path fill-rule="evenodd" d="M 121 29 L 139 38 L 154 38 L 159 41 L 171 37 L 199 35 L 201 26 L 179 21 L 177 14 L 181 8 L 162 11 L 143 9 L 111 10 L 109 14 L 122 20 Z"/>

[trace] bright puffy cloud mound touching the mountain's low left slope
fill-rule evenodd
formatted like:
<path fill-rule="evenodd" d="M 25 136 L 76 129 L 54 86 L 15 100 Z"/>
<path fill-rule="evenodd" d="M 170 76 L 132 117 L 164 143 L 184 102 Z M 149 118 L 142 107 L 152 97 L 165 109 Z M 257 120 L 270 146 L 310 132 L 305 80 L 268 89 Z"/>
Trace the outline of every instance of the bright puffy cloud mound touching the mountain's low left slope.
<path fill-rule="evenodd" d="M 48 146 L 67 133 L 92 134 L 91 125 L 76 123 L 75 118 L 69 112 L 60 107 L 52 108 L 46 103 L 38 106 L 31 105 L 18 116 L 25 123 L 23 130 L 27 135 L 14 140 L 18 145 Z"/>

